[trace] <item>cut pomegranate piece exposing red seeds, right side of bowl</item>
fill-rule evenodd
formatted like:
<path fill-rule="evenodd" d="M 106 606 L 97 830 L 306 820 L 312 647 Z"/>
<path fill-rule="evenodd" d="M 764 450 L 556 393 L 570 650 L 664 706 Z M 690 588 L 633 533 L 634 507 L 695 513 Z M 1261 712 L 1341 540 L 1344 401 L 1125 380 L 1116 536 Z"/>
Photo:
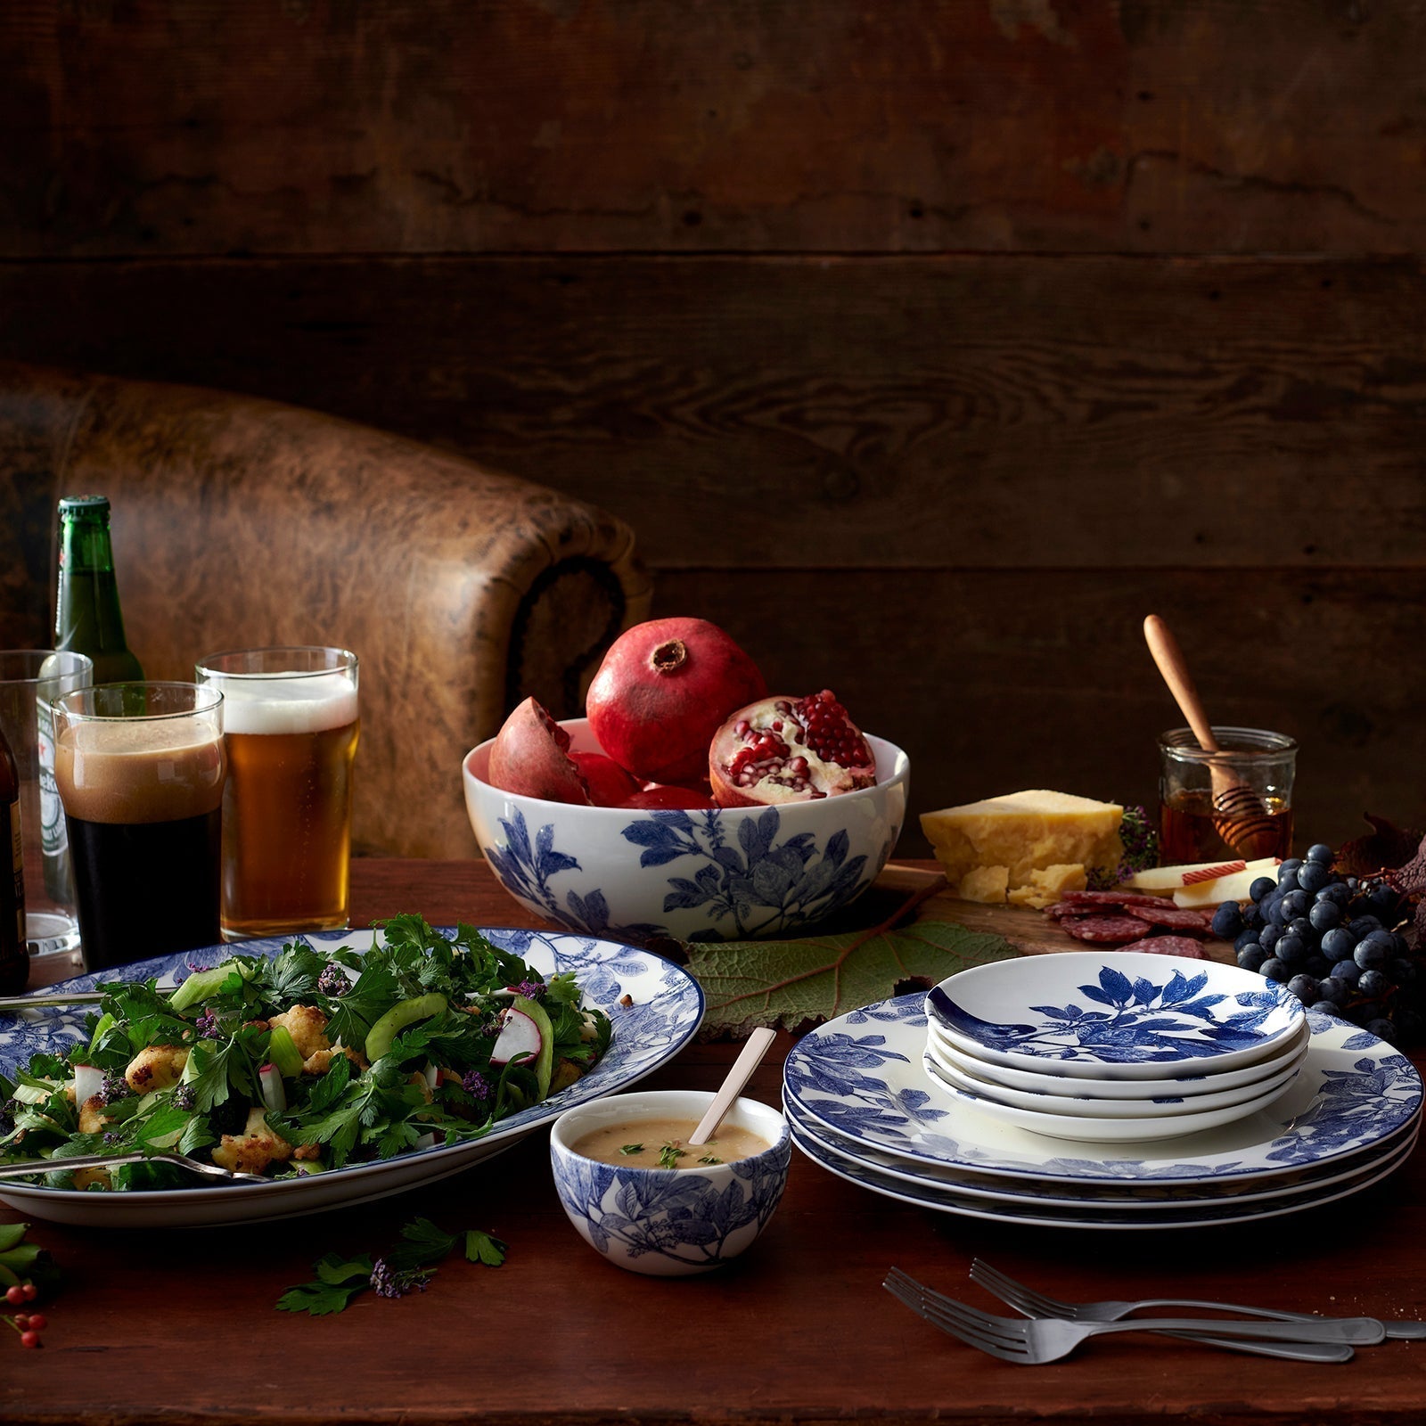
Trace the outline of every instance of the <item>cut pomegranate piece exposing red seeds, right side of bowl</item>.
<path fill-rule="evenodd" d="M 723 807 L 814 801 L 871 787 L 877 763 L 831 689 L 770 697 L 733 713 L 709 749 L 713 796 Z"/>

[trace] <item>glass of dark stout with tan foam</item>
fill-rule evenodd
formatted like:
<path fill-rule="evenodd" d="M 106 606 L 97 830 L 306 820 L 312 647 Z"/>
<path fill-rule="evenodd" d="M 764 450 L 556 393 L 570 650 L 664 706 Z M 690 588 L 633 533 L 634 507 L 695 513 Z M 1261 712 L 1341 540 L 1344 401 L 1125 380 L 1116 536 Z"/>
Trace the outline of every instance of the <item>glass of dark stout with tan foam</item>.
<path fill-rule="evenodd" d="M 217 945 L 221 692 L 100 683 L 51 707 L 84 968 Z"/>

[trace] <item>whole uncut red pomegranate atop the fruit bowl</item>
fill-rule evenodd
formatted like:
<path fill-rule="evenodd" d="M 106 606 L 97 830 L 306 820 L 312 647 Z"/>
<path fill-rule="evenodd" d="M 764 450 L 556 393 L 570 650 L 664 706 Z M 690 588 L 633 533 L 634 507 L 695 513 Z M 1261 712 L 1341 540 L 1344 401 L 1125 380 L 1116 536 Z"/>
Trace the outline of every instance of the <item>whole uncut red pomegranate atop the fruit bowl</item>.
<path fill-rule="evenodd" d="M 585 699 L 589 727 L 646 783 L 693 783 L 736 707 L 767 693 L 757 665 L 706 619 L 650 619 L 622 633 Z"/>

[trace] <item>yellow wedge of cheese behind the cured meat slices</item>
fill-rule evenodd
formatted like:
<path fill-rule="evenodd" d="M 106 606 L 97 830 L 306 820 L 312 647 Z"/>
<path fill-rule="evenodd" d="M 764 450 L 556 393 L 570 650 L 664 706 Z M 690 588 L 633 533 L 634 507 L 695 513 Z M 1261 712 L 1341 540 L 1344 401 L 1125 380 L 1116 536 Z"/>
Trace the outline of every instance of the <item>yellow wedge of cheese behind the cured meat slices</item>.
<path fill-rule="evenodd" d="M 1117 867 L 1122 819 L 1118 803 L 1037 790 L 923 813 L 921 830 L 951 886 L 977 867 L 1005 867 L 1015 891 L 1050 867 Z"/>

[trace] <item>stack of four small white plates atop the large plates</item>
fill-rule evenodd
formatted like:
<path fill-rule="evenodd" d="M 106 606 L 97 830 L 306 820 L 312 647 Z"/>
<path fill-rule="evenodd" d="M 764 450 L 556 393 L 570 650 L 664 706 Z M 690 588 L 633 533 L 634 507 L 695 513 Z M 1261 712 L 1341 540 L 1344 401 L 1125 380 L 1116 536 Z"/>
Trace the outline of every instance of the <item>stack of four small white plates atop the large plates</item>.
<path fill-rule="evenodd" d="M 978 965 L 925 998 L 931 1081 L 1057 1139 L 1198 1134 L 1256 1114 L 1308 1052 L 1291 991 L 1214 961 L 1121 951 Z"/>

